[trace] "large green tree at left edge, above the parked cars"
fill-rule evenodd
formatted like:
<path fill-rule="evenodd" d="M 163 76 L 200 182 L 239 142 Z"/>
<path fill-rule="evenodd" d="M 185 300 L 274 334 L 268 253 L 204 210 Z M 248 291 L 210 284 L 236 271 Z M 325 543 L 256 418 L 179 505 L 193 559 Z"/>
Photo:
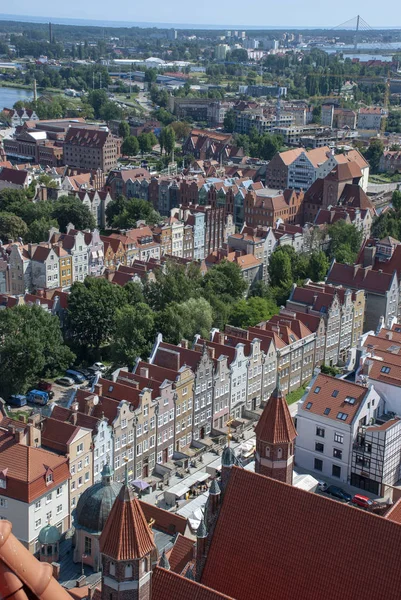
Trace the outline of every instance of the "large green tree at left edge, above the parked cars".
<path fill-rule="evenodd" d="M 59 319 L 40 306 L 0 311 L 0 394 L 25 392 L 40 377 L 54 377 L 75 355 L 63 343 Z"/>

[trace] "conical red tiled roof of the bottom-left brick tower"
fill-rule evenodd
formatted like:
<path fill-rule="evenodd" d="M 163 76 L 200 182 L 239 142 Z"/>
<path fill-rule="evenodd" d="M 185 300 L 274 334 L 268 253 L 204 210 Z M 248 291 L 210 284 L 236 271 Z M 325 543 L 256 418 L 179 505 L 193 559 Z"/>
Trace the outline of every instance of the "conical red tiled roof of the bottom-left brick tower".
<path fill-rule="evenodd" d="M 153 533 L 138 499 L 123 485 L 99 538 L 102 554 L 114 560 L 142 558 L 155 549 Z"/>

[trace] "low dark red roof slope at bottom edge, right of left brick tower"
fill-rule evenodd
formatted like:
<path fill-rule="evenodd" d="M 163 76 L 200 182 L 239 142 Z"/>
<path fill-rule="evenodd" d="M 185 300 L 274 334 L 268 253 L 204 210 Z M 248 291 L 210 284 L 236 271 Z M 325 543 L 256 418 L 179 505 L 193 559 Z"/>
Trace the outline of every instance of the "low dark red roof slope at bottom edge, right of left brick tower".
<path fill-rule="evenodd" d="M 156 567 L 152 577 L 152 600 L 234 600 L 173 571 Z M 251 600 L 249 597 L 247 600 Z M 254 599 L 252 599 L 254 600 Z"/>

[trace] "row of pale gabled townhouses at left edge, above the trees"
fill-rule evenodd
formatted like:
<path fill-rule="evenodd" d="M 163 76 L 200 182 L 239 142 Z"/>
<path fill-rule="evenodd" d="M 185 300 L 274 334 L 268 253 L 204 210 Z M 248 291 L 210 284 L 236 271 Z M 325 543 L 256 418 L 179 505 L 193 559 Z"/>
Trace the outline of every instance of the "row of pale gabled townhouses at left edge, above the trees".
<path fill-rule="evenodd" d="M 69 288 L 74 281 L 103 272 L 103 242 L 97 229 L 67 233 L 50 231 L 49 242 L 10 243 L 2 247 L 7 260 L 7 290 L 24 294 L 34 289 Z"/>

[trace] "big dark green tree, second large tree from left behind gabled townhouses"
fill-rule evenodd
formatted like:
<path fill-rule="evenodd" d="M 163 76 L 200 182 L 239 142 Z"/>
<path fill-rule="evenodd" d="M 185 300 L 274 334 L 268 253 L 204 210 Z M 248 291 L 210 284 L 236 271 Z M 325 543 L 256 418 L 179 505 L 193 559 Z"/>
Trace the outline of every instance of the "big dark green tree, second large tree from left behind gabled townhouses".
<path fill-rule="evenodd" d="M 124 289 L 106 279 L 76 281 L 68 299 L 67 338 L 86 349 L 109 343 L 115 332 L 115 315 L 125 303 Z"/>

